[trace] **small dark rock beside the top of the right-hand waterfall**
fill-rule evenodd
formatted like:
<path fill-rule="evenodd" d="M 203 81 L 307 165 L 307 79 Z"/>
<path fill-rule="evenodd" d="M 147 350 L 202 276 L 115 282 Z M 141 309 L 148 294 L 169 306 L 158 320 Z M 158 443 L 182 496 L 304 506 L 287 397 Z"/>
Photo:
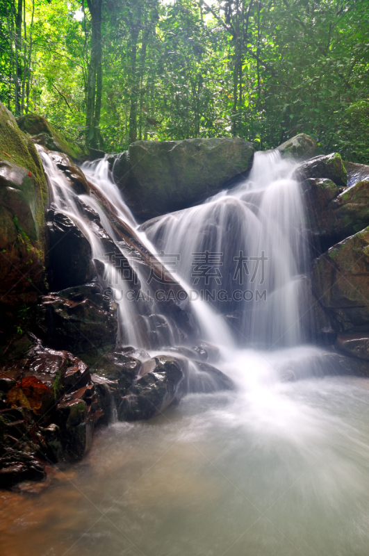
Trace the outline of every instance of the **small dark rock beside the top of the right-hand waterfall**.
<path fill-rule="evenodd" d="M 297 172 L 303 179 L 326 178 L 334 181 L 337 186 L 347 185 L 347 172 L 338 153 L 315 156 L 300 165 Z"/>

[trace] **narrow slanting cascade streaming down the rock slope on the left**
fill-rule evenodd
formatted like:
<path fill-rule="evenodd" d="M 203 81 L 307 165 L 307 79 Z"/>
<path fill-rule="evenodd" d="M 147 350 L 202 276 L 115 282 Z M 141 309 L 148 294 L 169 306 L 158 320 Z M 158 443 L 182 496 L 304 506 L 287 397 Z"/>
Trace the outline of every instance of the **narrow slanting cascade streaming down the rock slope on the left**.
<path fill-rule="evenodd" d="M 224 343 L 227 325 L 211 307 L 190 302 L 186 285 L 170 276 L 145 234 L 137 231 L 110 177 L 108 159 L 83 164 L 90 192 L 81 192 L 56 153 L 43 147 L 38 152 L 49 181 L 49 211 L 66 215 L 88 239 L 101 288 L 117 306 L 117 345 L 157 350 L 198 338 Z"/>

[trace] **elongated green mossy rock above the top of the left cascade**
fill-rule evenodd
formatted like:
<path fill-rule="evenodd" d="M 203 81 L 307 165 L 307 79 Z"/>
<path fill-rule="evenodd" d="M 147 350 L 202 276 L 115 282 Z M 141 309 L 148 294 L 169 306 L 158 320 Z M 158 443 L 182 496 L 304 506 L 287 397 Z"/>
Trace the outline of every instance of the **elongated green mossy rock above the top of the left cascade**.
<path fill-rule="evenodd" d="M 33 142 L 43 145 L 51 151 L 58 151 L 72 158 L 88 158 L 88 151 L 83 145 L 67 140 L 63 133 L 49 124 L 44 117 L 38 114 L 26 114 L 17 118 L 19 129 L 32 136 Z"/>

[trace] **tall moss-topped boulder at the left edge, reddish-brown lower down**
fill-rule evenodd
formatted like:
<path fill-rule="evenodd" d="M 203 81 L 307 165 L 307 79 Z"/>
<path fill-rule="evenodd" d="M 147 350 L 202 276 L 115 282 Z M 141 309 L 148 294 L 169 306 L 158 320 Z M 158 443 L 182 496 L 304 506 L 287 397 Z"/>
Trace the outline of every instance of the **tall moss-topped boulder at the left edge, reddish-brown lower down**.
<path fill-rule="evenodd" d="M 35 145 L 0 103 L 0 295 L 34 300 L 43 287 L 47 185 Z M 6 312 L 6 309 L 5 309 Z M 6 326 L 10 322 L 1 319 Z"/>

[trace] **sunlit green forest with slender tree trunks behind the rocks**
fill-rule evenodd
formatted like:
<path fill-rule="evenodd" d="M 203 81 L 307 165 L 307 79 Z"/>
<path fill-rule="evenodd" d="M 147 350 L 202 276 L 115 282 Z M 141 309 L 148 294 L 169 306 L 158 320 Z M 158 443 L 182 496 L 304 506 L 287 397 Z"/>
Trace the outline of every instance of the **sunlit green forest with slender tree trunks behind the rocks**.
<path fill-rule="evenodd" d="M 368 0 L 0 0 L 0 100 L 106 152 L 297 133 L 369 163 Z"/>

